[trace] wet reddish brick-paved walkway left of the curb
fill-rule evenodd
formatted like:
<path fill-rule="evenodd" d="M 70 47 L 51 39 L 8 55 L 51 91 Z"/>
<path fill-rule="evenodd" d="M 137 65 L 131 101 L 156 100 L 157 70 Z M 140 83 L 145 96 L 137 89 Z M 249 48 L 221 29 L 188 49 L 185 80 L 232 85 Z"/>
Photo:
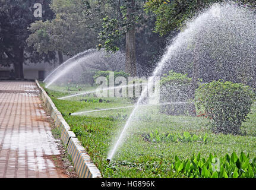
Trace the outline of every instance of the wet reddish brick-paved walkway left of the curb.
<path fill-rule="evenodd" d="M 0 178 L 64 178 L 60 151 L 31 81 L 0 81 Z"/>

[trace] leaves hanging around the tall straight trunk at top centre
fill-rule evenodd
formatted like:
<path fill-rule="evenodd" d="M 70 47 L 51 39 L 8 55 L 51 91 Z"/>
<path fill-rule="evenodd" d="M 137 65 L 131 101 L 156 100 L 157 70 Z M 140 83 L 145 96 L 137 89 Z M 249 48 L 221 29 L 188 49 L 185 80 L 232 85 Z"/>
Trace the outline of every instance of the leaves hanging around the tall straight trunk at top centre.
<path fill-rule="evenodd" d="M 106 50 L 112 52 L 119 50 L 119 47 L 117 47 L 118 42 L 131 29 L 131 26 L 134 24 L 141 26 L 146 22 L 146 17 L 142 11 L 143 5 L 144 1 L 135 1 L 134 12 L 128 14 L 127 10 L 132 6 L 131 1 L 108 1 L 105 7 L 108 7 L 108 12 L 112 14 L 106 13 L 105 17 L 101 18 L 103 24 L 98 39 L 103 44 L 100 44 L 98 48 L 105 47 Z"/>

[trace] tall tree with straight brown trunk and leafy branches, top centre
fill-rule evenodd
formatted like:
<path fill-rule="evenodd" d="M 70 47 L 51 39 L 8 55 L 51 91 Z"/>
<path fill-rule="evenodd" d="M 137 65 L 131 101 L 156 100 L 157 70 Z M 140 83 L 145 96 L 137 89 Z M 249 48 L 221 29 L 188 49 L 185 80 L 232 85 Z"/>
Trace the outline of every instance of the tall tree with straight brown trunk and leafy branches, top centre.
<path fill-rule="evenodd" d="M 102 30 L 99 34 L 99 48 L 105 47 L 106 50 L 115 52 L 119 50 L 118 42 L 125 36 L 125 72 L 131 76 L 137 75 L 136 64 L 136 24 L 142 24 L 145 21 L 143 17 L 144 1 L 124 0 L 124 1 L 103 1 L 99 2 L 97 7 L 102 7 L 108 14 L 103 17 Z M 107 11 L 105 11 L 107 12 Z M 99 14 L 99 16 L 101 16 Z"/>

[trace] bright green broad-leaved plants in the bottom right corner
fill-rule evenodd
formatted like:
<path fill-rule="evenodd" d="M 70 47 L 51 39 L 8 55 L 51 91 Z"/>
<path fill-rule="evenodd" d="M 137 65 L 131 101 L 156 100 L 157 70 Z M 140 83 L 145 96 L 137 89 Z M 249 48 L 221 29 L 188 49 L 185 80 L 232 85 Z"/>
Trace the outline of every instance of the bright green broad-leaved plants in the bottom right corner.
<path fill-rule="evenodd" d="M 210 154 L 208 159 L 200 158 L 200 153 L 187 160 L 175 156 L 172 170 L 187 178 L 256 178 L 256 158 L 251 161 L 243 152 L 240 157 L 236 153 L 224 157 Z"/>

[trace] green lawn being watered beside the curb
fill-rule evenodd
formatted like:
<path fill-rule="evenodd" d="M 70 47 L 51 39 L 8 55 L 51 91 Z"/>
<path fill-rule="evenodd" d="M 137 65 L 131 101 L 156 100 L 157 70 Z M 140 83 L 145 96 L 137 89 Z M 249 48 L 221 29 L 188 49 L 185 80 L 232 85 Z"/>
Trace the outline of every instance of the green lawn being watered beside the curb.
<path fill-rule="evenodd" d="M 78 139 L 86 148 L 91 159 L 100 169 L 105 178 L 172 178 L 170 167 L 175 156 L 188 159 L 193 154 L 201 153 L 202 157 L 216 154 L 225 156 L 242 151 L 251 157 L 256 157 L 256 106 L 243 124 L 245 135 L 213 134 L 208 121 L 191 116 L 169 116 L 158 112 L 157 106 L 147 109 L 140 107 L 131 126 L 128 136 L 110 164 L 106 162 L 112 142 L 125 125 L 132 108 L 94 112 L 87 115 L 69 116 L 69 113 L 82 110 L 105 109 L 109 107 L 131 106 L 127 99 L 107 99 L 108 103 L 99 103 L 96 97 L 80 96 L 72 100 L 58 100 L 58 97 L 68 95 L 46 89 L 65 121 L 71 126 Z M 52 96 L 53 95 L 53 96 Z M 85 102 L 90 99 L 94 102 Z M 207 143 L 200 142 L 150 142 L 143 134 L 157 130 L 159 134 L 189 132 L 203 137 L 208 135 Z"/>

